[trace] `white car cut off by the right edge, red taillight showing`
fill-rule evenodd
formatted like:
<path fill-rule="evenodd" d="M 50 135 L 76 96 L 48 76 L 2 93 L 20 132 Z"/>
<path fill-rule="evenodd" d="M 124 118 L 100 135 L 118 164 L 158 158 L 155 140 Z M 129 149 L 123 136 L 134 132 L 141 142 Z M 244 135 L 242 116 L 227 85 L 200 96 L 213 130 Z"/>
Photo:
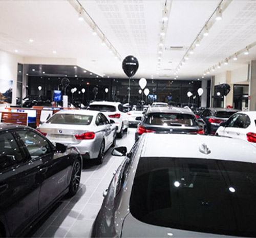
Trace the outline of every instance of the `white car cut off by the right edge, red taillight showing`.
<path fill-rule="evenodd" d="M 233 114 L 226 122 L 221 123 L 216 135 L 256 143 L 256 111 Z"/>

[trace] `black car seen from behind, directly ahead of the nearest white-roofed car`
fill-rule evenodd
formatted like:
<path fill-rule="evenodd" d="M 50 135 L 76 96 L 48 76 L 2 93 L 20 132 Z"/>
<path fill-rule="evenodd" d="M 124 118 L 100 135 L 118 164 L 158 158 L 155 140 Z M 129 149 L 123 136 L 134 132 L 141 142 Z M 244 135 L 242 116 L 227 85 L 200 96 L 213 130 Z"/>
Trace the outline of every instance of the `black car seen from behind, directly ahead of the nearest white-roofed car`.
<path fill-rule="evenodd" d="M 204 134 L 192 111 L 172 106 L 150 107 L 138 124 L 135 140 L 151 132 Z"/>

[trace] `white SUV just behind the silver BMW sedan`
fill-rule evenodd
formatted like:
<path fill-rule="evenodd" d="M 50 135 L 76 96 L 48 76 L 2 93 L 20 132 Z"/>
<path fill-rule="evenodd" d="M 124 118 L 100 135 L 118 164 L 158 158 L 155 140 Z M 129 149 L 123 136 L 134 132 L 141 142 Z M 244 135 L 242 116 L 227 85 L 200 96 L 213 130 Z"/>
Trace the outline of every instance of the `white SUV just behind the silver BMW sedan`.
<path fill-rule="evenodd" d="M 117 137 L 122 138 L 123 132 L 129 127 L 128 115 L 124 112 L 120 102 L 97 101 L 90 103 L 88 110 L 104 112 L 105 115 L 115 121 Z"/>

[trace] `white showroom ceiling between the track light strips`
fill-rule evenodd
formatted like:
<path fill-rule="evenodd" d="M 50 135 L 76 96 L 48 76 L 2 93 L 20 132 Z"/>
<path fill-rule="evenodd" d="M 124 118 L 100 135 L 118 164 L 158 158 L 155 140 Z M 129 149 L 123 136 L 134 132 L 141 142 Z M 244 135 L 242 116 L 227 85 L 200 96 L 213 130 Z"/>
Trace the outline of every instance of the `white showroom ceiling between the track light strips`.
<path fill-rule="evenodd" d="M 164 50 L 157 75 L 158 44 L 165 0 L 84 0 L 79 1 L 97 26 L 124 58 L 139 60 L 136 78 L 174 78 L 188 47 L 204 27 L 219 0 L 167 1 L 169 19 L 164 48 L 184 47 L 181 51 Z M 73 2 L 72 4 L 75 4 Z M 121 61 L 92 35 L 86 21 L 69 1 L 0 1 L 0 49 L 24 57 L 72 58 L 95 74 L 125 78 Z M 31 43 L 29 39 L 34 41 Z M 210 28 L 184 67 L 180 78 L 197 78 L 203 72 L 235 52 L 256 41 L 256 1 L 233 0 L 223 12 L 222 20 Z M 256 47 L 255 47 L 256 48 Z M 56 51 L 56 54 L 53 53 Z M 240 68 L 256 59 L 256 49 L 240 55 L 237 61 L 213 73 Z M 232 61 L 232 62 L 231 62 Z"/>

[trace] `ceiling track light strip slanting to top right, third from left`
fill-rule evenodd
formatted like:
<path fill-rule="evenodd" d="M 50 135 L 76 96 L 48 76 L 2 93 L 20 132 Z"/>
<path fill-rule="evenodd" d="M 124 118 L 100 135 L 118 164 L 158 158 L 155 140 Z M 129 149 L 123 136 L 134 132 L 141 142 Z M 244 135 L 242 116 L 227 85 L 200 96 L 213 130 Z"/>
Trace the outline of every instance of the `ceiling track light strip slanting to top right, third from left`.
<path fill-rule="evenodd" d="M 194 39 L 194 41 L 192 42 L 192 44 L 188 47 L 185 55 L 182 57 L 182 59 L 178 63 L 175 73 L 177 73 L 182 68 L 182 66 L 184 65 L 186 60 L 189 59 L 189 55 L 191 56 L 192 54 L 194 54 L 195 49 L 200 46 L 200 41 L 203 39 L 203 37 L 207 37 L 209 35 L 209 30 L 216 23 L 216 21 L 219 21 L 222 19 L 222 13 L 228 7 L 228 5 L 231 3 L 231 1 L 230 0 L 221 0 L 220 1 L 217 8 L 214 10 L 214 12 L 211 14 L 209 19 L 206 21 L 204 27 L 197 34 L 197 36 Z M 205 72 L 205 74 L 206 74 L 206 72 Z"/>

